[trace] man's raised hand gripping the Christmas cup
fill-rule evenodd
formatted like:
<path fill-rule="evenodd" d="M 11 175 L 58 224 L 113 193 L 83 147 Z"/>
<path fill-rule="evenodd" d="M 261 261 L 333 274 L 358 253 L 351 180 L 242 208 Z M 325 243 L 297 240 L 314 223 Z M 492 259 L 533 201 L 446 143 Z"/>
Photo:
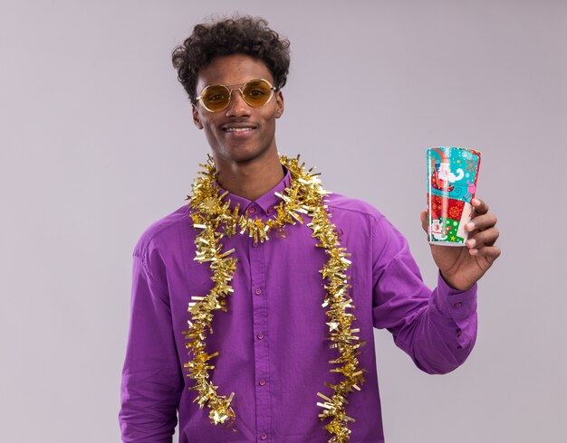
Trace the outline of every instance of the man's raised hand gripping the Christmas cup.
<path fill-rule="evenodd" d="M 447 284 L 462 291 L 485 275 L 500 255 L 500 248 L 495 246 L 500 235 L 495 228 L 495 215 L 488 212 L 488 205 L 482 200 L 474 198 L 471 204 L 474 212 L 473 219 L 465 225 L 465 230 L 469 231 L 466 247 L 429 245 Z M 421 225 L 428 232 L 427 211 L 421 212 Z"/>

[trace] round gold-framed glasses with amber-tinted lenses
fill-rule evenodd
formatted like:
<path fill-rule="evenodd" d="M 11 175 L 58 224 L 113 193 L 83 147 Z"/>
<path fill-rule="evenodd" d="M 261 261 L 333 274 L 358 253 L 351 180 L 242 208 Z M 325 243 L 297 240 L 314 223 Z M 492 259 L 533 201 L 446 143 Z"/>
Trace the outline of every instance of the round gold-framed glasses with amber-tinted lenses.
<path fill-rule="evenodd" d="M 233 90 L 240 91 L 240 96 L 252 108 L 264 106 L 274 96 L 277 90 L 268 80 L 254 79 L 248 80 L 242 88 L 228 88 L 225 85 L 208 85 L 205 87 L 196 102 L 200 101 L 203 108 L 209 112 L 218 112 L 225 109 L 230 103 Z"/>

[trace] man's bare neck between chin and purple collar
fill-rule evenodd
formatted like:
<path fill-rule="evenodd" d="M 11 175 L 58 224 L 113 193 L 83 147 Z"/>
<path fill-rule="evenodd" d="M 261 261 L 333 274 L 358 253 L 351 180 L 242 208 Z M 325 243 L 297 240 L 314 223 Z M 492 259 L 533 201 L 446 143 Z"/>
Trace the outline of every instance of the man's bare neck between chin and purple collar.
<path fill-rule="evenodd" d="M 255 201 L 283 180 L 283 167 L 277 150 L 266 153 L 262 159 L 245 163 L 216 160 L 218 184 L 247 200 Z"/>

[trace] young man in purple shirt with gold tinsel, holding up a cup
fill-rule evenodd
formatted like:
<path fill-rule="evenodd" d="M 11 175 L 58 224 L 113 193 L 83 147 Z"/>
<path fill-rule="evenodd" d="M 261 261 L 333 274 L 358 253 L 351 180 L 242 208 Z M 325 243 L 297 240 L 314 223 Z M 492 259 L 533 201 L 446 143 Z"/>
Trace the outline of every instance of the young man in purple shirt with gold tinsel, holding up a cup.
<path fill-rule="evenodd" d="M 177 413 L 181 443 L 383 442 L 373 327 L 430 373 L 475 343 L 495 216 L 475 200 L 466 248 L 432 246 L 428 289 L 380 212 L 278 156 L 288 47 L 239 17 L 197 25 L 173 53 L 212 160 L 134 250 L 125 442 L 170 442 Z"/>

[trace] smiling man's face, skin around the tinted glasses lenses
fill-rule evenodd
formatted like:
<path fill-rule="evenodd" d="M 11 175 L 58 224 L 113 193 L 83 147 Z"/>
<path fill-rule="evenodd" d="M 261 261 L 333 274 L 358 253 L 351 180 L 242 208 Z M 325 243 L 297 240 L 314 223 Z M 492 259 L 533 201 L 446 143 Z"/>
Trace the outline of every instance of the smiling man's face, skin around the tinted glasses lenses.
<path fill-rule="evenodd" d="M 242 54 L 217 57 L 199 72 L 197 95 L 209 85 L 241 88 L 248 80 L 265 79 L 274 84 L 274 78 L 263 61 Z M 240 95 L 232 91 L 228 107 L 209 112 L 200 103 L 193 106 L 193 121 L 205 130 L 216 164 L 234 164 L 261 159 L 275 146 L 275 118 L 283 113 L 283 96 L 275 92 L 261 108 L 252 108 Z"/>

